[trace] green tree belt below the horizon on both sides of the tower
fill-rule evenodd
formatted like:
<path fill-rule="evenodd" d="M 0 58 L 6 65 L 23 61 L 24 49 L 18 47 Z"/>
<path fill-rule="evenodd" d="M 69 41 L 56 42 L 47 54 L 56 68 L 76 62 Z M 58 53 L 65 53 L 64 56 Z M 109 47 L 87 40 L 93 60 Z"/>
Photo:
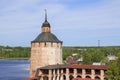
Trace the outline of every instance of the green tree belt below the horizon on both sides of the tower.
<path fill-rule="evenodd" d="M 63 61 L 71 54 L 77 54 L 77 58 L 83 57 L 82 64 L 101 62 L 108 65 L 106 71 L 107 80 L 120 80 L 120 46 L 107 47 L 63 47 Z M 107 56 L 114 55 L 117 60 L 109 61 Z M 0 59 L 6 58 L 30 58 L 30 47 L 0 46 Z"/>

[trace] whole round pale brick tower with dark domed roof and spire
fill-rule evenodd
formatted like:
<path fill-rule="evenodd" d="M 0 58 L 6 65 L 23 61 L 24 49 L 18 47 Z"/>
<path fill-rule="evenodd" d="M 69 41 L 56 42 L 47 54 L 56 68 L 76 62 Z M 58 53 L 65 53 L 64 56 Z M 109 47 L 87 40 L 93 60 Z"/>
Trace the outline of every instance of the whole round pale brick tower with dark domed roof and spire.
<path fill-rule="evenodd" d="M 30 77 L 34 77 L 37 68 L 53 64 L 62 64 L 62 41 L 51 33 L 50 24 L 42 24 L 42 32 L 31 42 Z"/>

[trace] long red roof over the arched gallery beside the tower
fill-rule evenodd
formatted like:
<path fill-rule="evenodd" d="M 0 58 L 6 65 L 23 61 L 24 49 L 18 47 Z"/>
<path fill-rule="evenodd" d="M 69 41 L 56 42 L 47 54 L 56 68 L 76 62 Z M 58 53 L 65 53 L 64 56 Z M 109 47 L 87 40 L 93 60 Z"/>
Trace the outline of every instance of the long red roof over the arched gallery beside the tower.
<path fill-rule="evenodd" d="M 70 64 L 68 68 L 81 68 L 81 69 L 103 69 L 107 70 L 108 66 L 106 65 L 79 65 L 79 64 Z"/>

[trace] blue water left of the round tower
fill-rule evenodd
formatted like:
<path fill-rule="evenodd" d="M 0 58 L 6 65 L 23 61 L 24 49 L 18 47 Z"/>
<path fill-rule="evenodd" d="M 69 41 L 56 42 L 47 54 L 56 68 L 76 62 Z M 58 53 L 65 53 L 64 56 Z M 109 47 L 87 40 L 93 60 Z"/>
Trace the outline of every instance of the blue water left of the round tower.
<path fill-rule="evenodd" d="M 0 60 L 0 80 L 28 78 L 29 63 L 29 60 Z"/>

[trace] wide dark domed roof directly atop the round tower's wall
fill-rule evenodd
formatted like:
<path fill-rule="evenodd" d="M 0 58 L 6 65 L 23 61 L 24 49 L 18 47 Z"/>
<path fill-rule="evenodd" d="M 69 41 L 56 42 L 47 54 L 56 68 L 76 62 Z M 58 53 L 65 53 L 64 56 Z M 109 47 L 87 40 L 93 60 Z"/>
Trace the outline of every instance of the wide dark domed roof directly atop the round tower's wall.
<path fill-rule="evenodd" d="M 58 38 L 52 33 L 41 33 L 37 36 L 37 38 L 32 42 L 60 42 Z"/>

